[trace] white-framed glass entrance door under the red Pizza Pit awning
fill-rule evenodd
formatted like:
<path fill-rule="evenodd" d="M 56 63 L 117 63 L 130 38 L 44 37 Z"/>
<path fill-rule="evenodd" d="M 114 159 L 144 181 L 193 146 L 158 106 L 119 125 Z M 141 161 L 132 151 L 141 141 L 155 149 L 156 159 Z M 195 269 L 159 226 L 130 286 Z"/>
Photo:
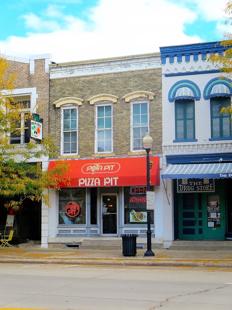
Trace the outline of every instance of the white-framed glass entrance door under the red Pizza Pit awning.
<path fill-rule="evenodd" d="M 101 234 L 116 236 L 118 232 L 118 195 L 102 194 L 101 206 Z"/>

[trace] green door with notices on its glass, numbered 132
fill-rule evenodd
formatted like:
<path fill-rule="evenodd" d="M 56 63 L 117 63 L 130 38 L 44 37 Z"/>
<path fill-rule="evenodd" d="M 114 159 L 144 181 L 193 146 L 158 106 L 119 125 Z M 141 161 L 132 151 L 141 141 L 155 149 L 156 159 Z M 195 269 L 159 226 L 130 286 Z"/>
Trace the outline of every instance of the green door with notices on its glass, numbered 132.
<path fill-rule="evenodd" d="M 204 239 L 225 239 L 225 195 L 223 191 L 203 194 Z"/>

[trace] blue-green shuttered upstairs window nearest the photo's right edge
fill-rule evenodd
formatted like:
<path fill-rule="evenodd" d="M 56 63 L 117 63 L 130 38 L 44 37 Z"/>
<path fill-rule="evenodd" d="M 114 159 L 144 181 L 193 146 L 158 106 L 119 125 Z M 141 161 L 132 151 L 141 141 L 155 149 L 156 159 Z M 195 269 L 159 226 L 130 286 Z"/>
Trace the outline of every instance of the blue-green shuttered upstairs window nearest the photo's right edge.
<path fill-rule="evenodd" d="M 211 108 L 211 138 L 231 138 L 231 115 L 222 113 L 222 108 L 230 106 L 230 98 L 228 97 L 213 97 L 210 99 Z"/>

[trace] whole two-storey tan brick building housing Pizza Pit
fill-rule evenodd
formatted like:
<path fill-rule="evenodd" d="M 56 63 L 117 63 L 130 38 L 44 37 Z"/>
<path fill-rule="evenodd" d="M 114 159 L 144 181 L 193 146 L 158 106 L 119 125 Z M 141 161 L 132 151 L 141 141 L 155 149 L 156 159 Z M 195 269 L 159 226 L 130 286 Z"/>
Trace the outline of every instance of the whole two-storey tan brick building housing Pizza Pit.
<path fill-rule="evenodd" d="M 58 158 L 49 165 L 57 159 L 72 165 L 70 187 L 53 195 L 49 243 L 60 242 L 59 237 L 82 242 L 84 237 L 119 237 L 123 232 L 138 233 L 145 242 L 145 192 L 135 196 L 141 198 L 136 204 L 131 187 L 146 190 L 142 139 L 147 131 L 153 138 L 151 185 L 157 194 L 152 236 L 153 243 L 162 243 L 160 54 L 49 67 L 49 133 L 58 147 Z M 68 201 L 75 205 L 73 217 Z"/>

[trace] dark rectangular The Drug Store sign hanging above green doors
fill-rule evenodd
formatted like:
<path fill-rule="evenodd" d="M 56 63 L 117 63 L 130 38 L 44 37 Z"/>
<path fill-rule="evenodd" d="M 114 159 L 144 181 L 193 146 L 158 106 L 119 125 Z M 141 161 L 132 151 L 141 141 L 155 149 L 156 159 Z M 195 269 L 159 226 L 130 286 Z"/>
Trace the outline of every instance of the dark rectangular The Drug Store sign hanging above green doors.
<path fill-rule="evenodd" d="M 177 179 L 177 193 L 215 192 L 214 179 Z"/>

